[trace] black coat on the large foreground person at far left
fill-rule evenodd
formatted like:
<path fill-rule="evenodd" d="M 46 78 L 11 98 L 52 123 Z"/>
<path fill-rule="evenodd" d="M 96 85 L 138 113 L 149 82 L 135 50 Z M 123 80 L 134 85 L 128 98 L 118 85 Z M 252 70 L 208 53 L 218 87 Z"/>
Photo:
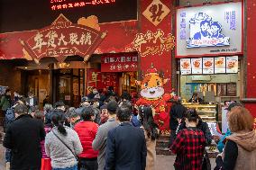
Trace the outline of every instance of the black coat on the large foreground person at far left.
<path fill-rule="evenodd" d="M 19 116 L 6 130 L 4 147 L 12 149 L 11 170 L 41 168 L 43 123 L 29 114 Z"/>

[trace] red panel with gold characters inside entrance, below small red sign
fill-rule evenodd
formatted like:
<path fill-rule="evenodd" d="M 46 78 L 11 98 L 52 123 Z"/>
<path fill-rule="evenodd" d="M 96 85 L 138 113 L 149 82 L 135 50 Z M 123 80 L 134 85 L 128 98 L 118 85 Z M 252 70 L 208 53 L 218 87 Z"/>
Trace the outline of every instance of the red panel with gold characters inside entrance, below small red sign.
<path fill-rule="evenodd" d="M 93 87 L 97 89 L 105 89 L 109 86 L 118 88 L 117 75 L 114 73 L 101 73 L 98 69 L 87 69 L 87 91 Z"/>

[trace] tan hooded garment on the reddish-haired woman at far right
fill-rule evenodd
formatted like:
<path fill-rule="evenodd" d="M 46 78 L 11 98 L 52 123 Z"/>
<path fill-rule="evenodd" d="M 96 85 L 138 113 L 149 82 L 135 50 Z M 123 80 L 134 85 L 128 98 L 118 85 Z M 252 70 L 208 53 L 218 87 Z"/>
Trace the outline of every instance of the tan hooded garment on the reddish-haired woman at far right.
<path fill-rule="evenodd" d="M 233 170 L 256 169 L 256 132 L 233 133 L 227 139 L 237 144 L 238 156 Z"/>

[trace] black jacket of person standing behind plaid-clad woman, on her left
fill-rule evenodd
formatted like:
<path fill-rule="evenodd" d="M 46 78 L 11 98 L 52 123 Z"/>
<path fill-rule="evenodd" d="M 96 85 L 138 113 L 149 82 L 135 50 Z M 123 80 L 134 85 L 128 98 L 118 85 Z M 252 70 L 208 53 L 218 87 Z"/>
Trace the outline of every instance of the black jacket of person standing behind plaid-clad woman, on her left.
<path fill-rule="evenodd" d="M 178 127 L 178 120 L 182 119 L 184 117 L 184 114 L 186 112 L 186 107 L 182 105 L 181 103 L 177 104 L 174 103 L 169 112 L 169 129 L 170 130 L 177 130 Z"/>

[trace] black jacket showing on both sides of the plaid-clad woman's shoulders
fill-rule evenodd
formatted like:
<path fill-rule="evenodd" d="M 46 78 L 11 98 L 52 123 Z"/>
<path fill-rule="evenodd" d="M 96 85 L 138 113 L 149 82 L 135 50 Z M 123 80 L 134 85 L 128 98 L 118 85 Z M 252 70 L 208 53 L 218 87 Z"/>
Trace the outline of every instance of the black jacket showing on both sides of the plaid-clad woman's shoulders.
<path fill-rule="evenodd" d="M 186 123 L 183 121 L 180 126 L 178 127 L 179 130 L 187 129 Z M 202 130 L 204 132 L 204 135 L 206 137 L 206 146 L 211 145 L 212 143 L 212 134 L 208 127 L 208 124 L 205 121 L 199 120 L 197 124 L 197 129 Z"/>

